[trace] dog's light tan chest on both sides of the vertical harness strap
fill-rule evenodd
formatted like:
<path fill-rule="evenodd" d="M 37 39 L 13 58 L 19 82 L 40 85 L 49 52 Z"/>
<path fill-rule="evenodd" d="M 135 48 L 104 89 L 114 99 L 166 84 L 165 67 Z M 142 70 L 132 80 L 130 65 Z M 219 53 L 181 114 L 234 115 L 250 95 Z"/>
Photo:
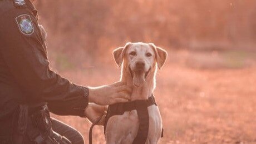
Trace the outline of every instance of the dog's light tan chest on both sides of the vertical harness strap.
<path fill-rule="evenodd" d="M 152 105 L 148 107 L 149 112 L 149 134 L 150 138 L 160 138 L 161 117 L 158 107 Z M 117 143 L 132 143 L 139 130 L 139 117 L 137 111 L 124 112 L 123 115 L 110 117 L 106 127 L 106 139 L 112 139 Z"/>

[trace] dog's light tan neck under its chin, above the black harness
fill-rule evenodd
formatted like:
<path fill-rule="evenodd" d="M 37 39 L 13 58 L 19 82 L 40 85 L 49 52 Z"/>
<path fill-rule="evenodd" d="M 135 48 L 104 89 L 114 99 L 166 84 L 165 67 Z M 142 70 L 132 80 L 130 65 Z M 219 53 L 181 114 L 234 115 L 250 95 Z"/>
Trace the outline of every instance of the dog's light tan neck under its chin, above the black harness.
<path fill-rule="evenodd" d="M 132 86 L 131 101 L 147 100 L 152 95 L 155 88 L 155 73 L 156 67 L 154 66 L 147 75 L 145 84 L 141 87 L 136 87 L 134 86 L 129 69 L 122 67 L 121 81 L 126 82 L 128 86 Z"/>

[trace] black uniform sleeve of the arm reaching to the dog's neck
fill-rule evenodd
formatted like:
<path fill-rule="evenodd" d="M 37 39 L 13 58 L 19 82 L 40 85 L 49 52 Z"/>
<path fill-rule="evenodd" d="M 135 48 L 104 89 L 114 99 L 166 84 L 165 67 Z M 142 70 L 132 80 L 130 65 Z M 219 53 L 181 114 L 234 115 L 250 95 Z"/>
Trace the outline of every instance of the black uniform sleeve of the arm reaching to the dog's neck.
<path fill-rule="evenodd" d="M 29 22 L 17 23 L 16 18 L 22 14 L 31 18 L 33 29 Z M 22 32 L 22 26 L 28 34 Z M 43 43 L 38 21 L 27 9 L 12 9 L 0 16 L 0 54 L 21 88 L 29 97 L 46 101 L 57 115 L 83 116 L 88 88 L 51 71 Z"/>

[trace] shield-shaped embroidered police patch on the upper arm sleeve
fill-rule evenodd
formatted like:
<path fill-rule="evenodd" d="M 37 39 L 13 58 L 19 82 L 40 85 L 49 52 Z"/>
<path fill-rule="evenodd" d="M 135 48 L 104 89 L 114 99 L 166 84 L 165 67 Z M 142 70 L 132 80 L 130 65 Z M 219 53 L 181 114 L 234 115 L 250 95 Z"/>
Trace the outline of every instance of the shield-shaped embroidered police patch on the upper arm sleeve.
<path fill-rule="evenodd" d="M 34 27 L 31 21 L 31 17 L 28 14 L 21 14 L 16 18 L 19 30 L 27 36 L 33 34 Z"/>

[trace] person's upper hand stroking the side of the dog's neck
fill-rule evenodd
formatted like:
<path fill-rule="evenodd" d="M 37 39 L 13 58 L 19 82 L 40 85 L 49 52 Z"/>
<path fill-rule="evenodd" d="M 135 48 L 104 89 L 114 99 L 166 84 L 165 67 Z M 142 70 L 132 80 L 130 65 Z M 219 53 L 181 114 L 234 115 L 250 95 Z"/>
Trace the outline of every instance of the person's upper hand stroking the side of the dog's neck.
<path fill-rule="evenodd" d="M 124 82 L 116 82 L 112 85 L 101 87 L 89 87 L 89 102 L 106 106 L 118 102 L 128 102 L 130 100 L 132 88 L 126 86 Z"/>

